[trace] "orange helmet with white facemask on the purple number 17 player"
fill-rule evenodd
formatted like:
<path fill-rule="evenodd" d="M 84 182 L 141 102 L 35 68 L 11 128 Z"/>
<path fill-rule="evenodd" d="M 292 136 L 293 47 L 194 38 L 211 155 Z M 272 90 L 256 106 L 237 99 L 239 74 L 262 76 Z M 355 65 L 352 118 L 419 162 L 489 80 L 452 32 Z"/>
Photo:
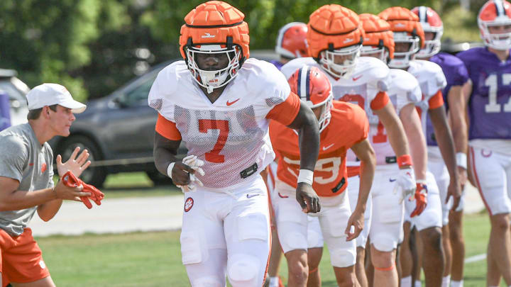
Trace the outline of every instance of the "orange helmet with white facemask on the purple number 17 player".
<path fill-rule="evenodd" d="M 478 15 L 480 37 L 486 46 L 496 50 L 511 48 L 511 33 L 490 33 L 491 26 L 511 26 L 511 4 L 505 0 L 490 0 Z"/>

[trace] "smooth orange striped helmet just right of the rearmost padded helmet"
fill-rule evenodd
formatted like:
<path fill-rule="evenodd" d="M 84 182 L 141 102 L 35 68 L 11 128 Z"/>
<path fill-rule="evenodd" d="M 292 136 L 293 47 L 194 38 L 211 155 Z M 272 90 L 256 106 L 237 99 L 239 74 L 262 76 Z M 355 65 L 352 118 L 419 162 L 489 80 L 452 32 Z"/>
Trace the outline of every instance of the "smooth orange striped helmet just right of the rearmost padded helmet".
<path fill-rule="evenodd" d="M 444 23 L 442 23 L 439 14 L 429 7 L 418 6 L 412 9 L 412 12 L 419 16 L 419 22 L 422 25 L 424 33 L 429 32 L 434 35 L 433 40 L 424 41 L 426 47 L 417 52 L 417 57 L 420 59 L 432 57 L 440 52 L 440 39 L 444 34 Z"/>

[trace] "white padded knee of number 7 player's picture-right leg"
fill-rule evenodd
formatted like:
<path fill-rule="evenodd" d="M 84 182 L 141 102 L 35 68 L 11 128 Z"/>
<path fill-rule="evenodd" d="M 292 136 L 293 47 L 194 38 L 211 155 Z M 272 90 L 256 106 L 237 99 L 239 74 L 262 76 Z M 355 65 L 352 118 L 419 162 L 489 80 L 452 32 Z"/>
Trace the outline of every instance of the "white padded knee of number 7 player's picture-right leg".
<path fill-rule="evenodd" d="M 227 275 L 233 286 L 256 286 L 260 273 L 263 280 L 263 271 L 259 259 L 249 254 L 234 254 L 227 263 Z"/>

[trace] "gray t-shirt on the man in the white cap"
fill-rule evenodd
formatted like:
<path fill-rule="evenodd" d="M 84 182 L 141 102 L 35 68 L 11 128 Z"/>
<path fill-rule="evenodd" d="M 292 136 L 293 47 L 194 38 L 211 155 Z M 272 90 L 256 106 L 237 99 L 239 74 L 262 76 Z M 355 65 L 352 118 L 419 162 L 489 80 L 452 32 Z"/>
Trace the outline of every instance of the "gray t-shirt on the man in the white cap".
<path fill-rule="evenodd" d="M 53 187 L 53 152 L 48 142 L 40 145 L 28 123 L 0 132 L 0 176 L 19 181 L 19 191 Z M 21 235 L 36 209 L 0 212 L 0 228 L 11 236 Z"/>

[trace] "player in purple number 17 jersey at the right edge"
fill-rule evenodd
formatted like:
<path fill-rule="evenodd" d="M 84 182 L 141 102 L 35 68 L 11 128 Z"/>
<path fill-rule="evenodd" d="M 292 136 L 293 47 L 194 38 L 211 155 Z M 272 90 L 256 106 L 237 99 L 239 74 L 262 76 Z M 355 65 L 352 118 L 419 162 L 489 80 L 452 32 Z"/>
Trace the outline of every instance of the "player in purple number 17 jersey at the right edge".
<path fill-rule="evenodd" d="M 458 53 L 471 79 L 469 162 L 490 214 L 488 286 L 511 286 L 511 4 L 490 0 L 479 11 L 486 47 Z"/>

